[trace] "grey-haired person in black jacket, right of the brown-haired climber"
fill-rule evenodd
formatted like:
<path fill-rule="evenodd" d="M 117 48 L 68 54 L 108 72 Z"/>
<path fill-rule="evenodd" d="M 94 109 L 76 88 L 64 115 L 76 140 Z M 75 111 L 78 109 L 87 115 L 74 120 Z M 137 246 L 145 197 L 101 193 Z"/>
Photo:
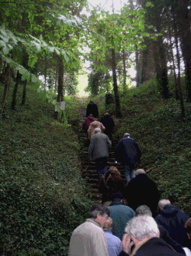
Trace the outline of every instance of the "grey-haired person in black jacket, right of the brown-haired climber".
<path fill-rule="evenodd" d="M 128 200 L 128 206 L 135 211 L 138 206 L 146 205 L 155 217 L 160 199 L 157 184 L 147 177 L 144 169 L 136 170 L 135 175 L 126 188 L 125 199 Z"/>

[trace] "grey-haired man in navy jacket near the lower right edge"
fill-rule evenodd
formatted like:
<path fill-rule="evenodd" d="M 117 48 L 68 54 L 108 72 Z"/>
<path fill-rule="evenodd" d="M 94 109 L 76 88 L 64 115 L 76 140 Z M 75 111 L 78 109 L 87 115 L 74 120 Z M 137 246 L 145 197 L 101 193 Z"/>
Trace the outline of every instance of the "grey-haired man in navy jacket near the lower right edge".
<path fill-rule="evenodd" d="M 172 206 L 168 199 L 161 199 L 158 206 L 160 214 L 155 218 L 158 225 L 163 225 L 169 232 L 170 238 L 186 247 L 188 245 L 188 238 L 184 225 L 189 216 L 177 207 Z"/>

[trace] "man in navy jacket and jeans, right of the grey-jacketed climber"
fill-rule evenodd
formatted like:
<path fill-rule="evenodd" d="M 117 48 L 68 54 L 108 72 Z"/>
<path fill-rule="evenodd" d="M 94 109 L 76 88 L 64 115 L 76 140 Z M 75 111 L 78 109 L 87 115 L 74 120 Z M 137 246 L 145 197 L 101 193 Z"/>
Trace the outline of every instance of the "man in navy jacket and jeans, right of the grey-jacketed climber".
<path fill-rule="evenodd" d="M 123 164 L 125 171 L 125 179 L 127 184 L 135 177 L 135 164 L 141 158 L 141 149 L 138 143 L 131 138 L 130 134 L 125 133 L 124 137 L 119 141 L 115 148 L 115 160 Z"/>

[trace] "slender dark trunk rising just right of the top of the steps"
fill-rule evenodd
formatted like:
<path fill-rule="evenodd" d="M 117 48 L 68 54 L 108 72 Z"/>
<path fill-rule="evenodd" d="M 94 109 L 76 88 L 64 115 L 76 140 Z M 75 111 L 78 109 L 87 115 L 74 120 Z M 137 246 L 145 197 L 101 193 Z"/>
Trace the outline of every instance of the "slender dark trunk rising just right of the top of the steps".
<path fill-rule="evenodd" d="M 116 108 L 116 116 L 121 117 L 121 109 L 120 102 L 118 97 L 118 83 L 117 83 L 117 75 L 116 75 L 116 61 L 115 61 L 115 49 L 112 48 L 112 76 L 113 76 L 113 89 L 115 94 L 115 108 Z"/>

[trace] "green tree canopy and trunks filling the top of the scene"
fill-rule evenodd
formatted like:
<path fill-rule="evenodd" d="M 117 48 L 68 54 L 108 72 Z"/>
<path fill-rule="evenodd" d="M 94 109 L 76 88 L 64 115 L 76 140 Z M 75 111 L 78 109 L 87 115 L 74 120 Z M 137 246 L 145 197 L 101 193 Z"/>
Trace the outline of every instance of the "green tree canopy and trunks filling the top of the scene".
<path fill-rule="evenodd" d="M 190 5 L 186 0 L 127 1 L 118 10 L 82 1 L 1 1 L 0 79 L 5 86 L 2 113 L 10 81 L 15 83 L 11 108 L 22 82 L 60 105 L 77 93 L 83 63 L 89 62 L 92 95 L 112 92 L 116 115 L 121 116 L 119 92 L 131 86 L 128 69 L 136 70 L 136 86 L 156 78 L 160 95 L 191 99 Z M 38 79 L 44 77 L 44 83 Z M 185 86 L 185 96 L 182 87 Z M 57 99 L 55 101 L 55 99 Z"/>

